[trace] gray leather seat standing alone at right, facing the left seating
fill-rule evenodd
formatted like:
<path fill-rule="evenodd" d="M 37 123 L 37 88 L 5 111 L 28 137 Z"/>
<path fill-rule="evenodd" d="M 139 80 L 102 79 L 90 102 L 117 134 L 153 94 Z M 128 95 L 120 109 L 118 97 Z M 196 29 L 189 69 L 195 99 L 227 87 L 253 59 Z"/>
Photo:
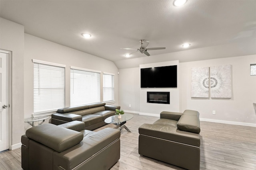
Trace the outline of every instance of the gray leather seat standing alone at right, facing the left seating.
<path fill-rule="evenodd" d="M 140 155 L 188 170 L 200 169 L 200 121 L 198 111 L 163 111 L 153 124 L 139 127 Z"/>

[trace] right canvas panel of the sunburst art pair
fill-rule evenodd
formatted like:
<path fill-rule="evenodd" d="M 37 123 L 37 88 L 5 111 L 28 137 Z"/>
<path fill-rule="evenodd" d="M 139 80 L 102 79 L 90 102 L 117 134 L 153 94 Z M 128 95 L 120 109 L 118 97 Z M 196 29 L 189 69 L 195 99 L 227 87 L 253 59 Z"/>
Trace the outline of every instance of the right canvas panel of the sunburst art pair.
<path fill-rule="evenodd" d="M 231 98 L 231 65 L 210 67 L 211 98 Z"/>

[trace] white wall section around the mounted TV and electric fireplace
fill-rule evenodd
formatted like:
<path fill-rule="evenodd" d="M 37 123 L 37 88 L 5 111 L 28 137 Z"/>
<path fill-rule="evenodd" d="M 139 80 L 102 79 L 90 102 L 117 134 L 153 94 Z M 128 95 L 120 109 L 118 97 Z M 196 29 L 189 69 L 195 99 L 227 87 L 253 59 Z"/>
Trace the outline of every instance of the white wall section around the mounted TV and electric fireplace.
<path fill-rule="evenodd" d="M 142 64 L 140 68 L 168 65 L 178 65 L 179 70 L 178 61 Z M 119 70 L 119 104 L 121 108 L 130 113 L 155 116 L 159 116 L 161 111 L 179 111 L 179 82 L 178 88 L 140 88 L 140 68 L 124 68 Z M 170 104 L 147 103 L 146 94 L 148 91 L 170 92 Z"/>

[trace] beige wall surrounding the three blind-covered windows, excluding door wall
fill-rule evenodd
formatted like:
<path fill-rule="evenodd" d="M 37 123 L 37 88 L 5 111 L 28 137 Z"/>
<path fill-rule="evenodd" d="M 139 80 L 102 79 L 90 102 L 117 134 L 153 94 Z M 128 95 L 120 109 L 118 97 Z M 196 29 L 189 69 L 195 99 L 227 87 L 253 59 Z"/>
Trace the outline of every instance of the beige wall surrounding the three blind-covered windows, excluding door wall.
<path fill-rule="evenodd" d="M 33 113 L 33 63 L 32 59 L 47 61 L 66 65 L 66 89 L 65 105 L 70 106 L 70 66 L 99 70 L 115 74 L 115 105 L 118 105 L 118 69 L 112 61 L 102 59 L 45 39 L 35 37 L 25 33 L 25 53 L 24 53 L 24 117 L 31 117 Z M 102 76 L 101 76 L 101 101 L 102 101 Z M 25 124 L 25 130 L 30 125 Z"/>

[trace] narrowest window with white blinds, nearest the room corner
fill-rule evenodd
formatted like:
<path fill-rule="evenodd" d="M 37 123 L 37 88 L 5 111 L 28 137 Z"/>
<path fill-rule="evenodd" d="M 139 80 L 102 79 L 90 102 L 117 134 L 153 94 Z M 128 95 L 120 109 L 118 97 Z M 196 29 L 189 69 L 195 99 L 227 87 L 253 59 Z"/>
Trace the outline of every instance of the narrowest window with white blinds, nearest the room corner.
<path fill-rule="evenodd" d="M 114 75 L 103 72 L 103 102 L 114 102 Z"/>

